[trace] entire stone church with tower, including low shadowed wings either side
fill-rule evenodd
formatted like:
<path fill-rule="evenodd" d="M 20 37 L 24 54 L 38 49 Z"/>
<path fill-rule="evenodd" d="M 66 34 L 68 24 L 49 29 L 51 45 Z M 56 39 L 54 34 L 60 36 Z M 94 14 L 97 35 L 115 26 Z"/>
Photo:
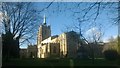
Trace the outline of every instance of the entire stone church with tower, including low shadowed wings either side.
<path fill-rule="evenodd" d="M 82 44 L 80 45 L 80 42 Z M 74 31 L 64 32 L 51 36 L 51 26 L 47 25 L 44 16 L 40 25 L 36 45 L 28 45 L 27 49 L 20 50 L 21 58 L 87 58 L 94 47 L 95 55 L 101 56 L 103 46 L 86 44 Z M 93 49 L 92 49 L 93 50 Z"/>

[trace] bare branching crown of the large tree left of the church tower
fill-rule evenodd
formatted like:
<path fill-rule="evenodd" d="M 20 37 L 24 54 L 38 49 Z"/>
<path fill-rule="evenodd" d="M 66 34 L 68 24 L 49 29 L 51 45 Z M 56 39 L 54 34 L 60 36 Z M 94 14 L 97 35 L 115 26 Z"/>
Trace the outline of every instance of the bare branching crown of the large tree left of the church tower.
<path fill-rule="evenodd" d="M 51 4 L 52 2 L 45 8 L 37 10 L 34 8 L 34 4 L 29 2 L 2 3 L 4 33 L 11 32 L 14 39 L 27 40 L 27 38 L 33 38 L 33 34 L 36 33 L 36 28 L 42 19 L 39 15 L 40 12 L 47 9 Z"/>

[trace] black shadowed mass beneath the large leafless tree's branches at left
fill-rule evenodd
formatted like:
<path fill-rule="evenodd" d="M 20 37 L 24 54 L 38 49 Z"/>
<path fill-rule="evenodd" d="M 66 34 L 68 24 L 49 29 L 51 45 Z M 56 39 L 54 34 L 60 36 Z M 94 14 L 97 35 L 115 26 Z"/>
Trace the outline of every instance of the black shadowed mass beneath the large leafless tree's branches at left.
<path fill-rule="evenodd" d="M 10 32 L 2 35 L 2 44 L 3 59 L 19 58 L 19 40 L 14 40 L 13 35 Z"/>

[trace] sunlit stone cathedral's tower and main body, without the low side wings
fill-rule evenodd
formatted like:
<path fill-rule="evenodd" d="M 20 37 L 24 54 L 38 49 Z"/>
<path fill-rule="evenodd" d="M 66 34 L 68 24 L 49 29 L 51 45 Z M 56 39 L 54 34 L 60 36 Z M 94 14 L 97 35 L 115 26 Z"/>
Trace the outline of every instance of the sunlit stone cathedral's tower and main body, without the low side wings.
<path fill-rule="evenodd" d="M 77 57 L 78 34 L 74 31 L 51 36 L 51 27 L 46 17 L 40 25 L 37 37 L 38 58 L 75 58 Z"/>

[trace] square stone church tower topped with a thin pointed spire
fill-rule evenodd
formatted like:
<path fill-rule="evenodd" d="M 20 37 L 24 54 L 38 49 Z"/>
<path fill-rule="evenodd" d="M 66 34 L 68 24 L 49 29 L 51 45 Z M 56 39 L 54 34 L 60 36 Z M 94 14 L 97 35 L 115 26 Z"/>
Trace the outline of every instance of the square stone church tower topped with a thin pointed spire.
<path fill-rule="evenodd" d="M 46 38 L 51 36 L 51 28 L 50 25 L 46 23 L 46 16 L 44 15 L 44 20 L 42 25 L 40 25 L 38 30 L 38 39 L 37 44 L 40 44 L 41 41 L 45 40 Z"/>

